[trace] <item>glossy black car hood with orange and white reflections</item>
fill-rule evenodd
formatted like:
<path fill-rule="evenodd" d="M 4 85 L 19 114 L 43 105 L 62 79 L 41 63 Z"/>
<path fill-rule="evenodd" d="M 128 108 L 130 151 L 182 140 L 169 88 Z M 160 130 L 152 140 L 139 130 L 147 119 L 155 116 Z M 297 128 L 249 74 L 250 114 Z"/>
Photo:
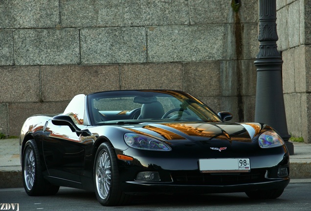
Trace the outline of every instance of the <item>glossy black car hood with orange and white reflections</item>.
<path fill-rule="evenodd" d="M 154 136 L 165 141 L 208 141 L 228 140 L 251 142 L 252 139 L 265 127 L 259 123 L 202 123 L 202 122 L 178 122 L 178 123 L 142 123 L 127 127 L 135 133 Z"/>

